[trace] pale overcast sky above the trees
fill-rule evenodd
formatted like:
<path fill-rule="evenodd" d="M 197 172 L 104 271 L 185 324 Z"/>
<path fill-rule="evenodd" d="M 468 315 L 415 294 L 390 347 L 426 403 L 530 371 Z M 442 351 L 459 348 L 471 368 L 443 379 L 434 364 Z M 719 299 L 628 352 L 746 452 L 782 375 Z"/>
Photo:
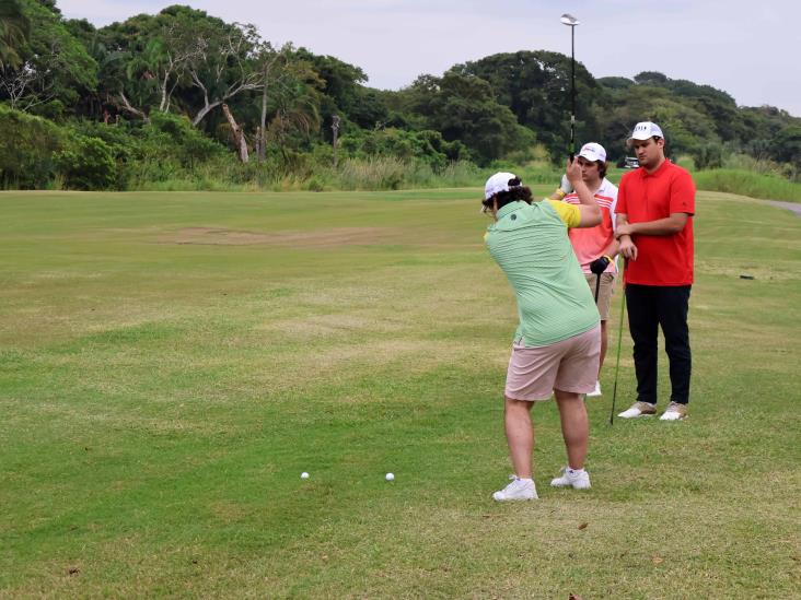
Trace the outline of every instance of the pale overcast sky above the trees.
<path fill-rule="evenodd" d="M 595 78 L 660 71 L 801 117 L 801 0 L 57 0 L 96 26 L 171 3 L 254 23 L 274 45 L 335 56 L 390 90 L 496 52 L 569 56 L 569 12 L 581 22 L 576 59 Z"/>

